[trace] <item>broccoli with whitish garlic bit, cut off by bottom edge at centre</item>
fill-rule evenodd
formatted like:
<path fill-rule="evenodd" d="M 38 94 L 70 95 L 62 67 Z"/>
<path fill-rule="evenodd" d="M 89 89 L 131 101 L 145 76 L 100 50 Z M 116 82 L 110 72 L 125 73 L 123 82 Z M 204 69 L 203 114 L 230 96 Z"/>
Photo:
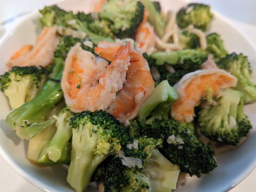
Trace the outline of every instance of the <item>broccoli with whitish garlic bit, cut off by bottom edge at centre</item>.
<path fill-rule="evenodd" d="M 105 192 L 170 192 L 180 169 L 156 149 L 162 139 L 135 138 L 105 164 Z M 152 174 L 154 173 L 154 174 Z"/>

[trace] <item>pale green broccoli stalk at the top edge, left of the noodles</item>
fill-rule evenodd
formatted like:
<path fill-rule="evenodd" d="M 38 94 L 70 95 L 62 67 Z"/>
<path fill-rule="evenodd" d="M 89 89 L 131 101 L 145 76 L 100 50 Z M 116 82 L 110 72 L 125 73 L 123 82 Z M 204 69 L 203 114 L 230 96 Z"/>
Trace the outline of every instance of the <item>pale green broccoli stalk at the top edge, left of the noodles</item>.
<path fill-rule="evenodd" d="M 167 25 L 166 20 L 160 15 L 155 4 L 151 0 L 140 1 L 145 6 L 145 10 L 149 12 L 148 22 L 154 27 L 155 33 L 158 37 L 163 37 Z"/>

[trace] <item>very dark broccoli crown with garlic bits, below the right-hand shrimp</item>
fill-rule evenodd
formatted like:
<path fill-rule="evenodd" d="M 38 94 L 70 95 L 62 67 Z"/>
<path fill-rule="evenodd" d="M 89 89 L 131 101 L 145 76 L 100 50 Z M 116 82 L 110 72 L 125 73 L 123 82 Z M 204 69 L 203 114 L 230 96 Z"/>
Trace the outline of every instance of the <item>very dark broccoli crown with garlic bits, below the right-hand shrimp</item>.
<path fill-rule="evenodd" d="M 200 177 L 201 173 L 209 173 L 217 167 L 214 150 L 199 142 L 193 132 L 174 119 L 154 119 L 151 123 L 133 119 L 129 126 L 140 130 L 141 136 L 162 138 L 163 147 L 159 151 L 173 164 L 177 164 L 182 172 L 190 176 Z"/>

